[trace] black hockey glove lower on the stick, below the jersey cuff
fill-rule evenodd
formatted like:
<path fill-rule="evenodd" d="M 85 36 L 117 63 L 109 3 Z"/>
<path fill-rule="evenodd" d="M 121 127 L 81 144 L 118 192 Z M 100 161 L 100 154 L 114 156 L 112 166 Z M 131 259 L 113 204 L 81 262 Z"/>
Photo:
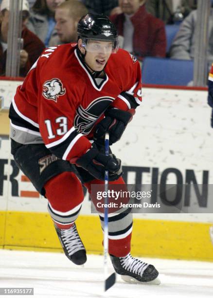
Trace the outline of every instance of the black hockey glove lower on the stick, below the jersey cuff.
<path fill-rule="evenodd" d="M 76 166 L 86 169 L 92 176 L 99 180 L 105 180 L 105 171 L 109 171 L 109 181 L 117 180 L 122 175 L 121 160 L 114 154 L 106 156 L 95 145 L 87 153 L 78 158 Z"/>

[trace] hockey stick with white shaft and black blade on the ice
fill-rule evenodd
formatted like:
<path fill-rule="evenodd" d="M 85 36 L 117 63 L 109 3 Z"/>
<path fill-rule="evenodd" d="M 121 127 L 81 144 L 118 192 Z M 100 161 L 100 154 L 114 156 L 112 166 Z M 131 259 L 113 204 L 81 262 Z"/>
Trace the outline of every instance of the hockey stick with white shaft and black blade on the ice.
<path fill-rule="evenodd" d="M 105 154 L 109 155 L 109 133 L 105 135 Z M 105 171 L 105 191 L 108 193 L 108 171 Z M 104 199 L 104 279 L 105 279 L 105 292 L 113 286 L 116 280 L 115 273 L 108 277 L 107 273 L 107 256 L 108 256 L 108 196 Z"/>

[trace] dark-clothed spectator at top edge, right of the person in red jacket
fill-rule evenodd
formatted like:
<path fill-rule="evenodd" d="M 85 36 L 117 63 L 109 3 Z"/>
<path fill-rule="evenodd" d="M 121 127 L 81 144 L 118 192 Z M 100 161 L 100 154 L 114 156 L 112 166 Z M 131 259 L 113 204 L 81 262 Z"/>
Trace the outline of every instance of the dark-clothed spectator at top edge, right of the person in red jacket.
<path fill-rule="evenodd" d="M 191 10 L 196 9 L 197 0 L 148 0 L 146 10 L 166 24 L 182 21 Z"/>

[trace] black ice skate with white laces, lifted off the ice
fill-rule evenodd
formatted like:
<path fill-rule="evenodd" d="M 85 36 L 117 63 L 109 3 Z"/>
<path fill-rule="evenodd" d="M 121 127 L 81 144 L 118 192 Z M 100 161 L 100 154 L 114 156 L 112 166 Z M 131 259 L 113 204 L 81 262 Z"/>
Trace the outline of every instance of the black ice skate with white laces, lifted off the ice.
<path fill-rule="evenodd" d="M 59 229 L 55 225 L 55 230 L 68 259 L 76 265 L 83 265 L 87 261 L 86 249 L 78 235 L 75 223 L 67 230 Z"/>

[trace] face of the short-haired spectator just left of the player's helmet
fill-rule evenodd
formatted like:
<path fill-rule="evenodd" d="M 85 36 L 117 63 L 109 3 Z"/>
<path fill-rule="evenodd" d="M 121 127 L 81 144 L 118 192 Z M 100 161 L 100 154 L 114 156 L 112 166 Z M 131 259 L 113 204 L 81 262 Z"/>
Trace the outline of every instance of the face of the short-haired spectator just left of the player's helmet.
<path fill-rule="evenodd" d="M 69 10 L 57 8 L 55 10 L 55 29 L 62 43 L 77 41 L 77 22 L 71 18 Z"/>

